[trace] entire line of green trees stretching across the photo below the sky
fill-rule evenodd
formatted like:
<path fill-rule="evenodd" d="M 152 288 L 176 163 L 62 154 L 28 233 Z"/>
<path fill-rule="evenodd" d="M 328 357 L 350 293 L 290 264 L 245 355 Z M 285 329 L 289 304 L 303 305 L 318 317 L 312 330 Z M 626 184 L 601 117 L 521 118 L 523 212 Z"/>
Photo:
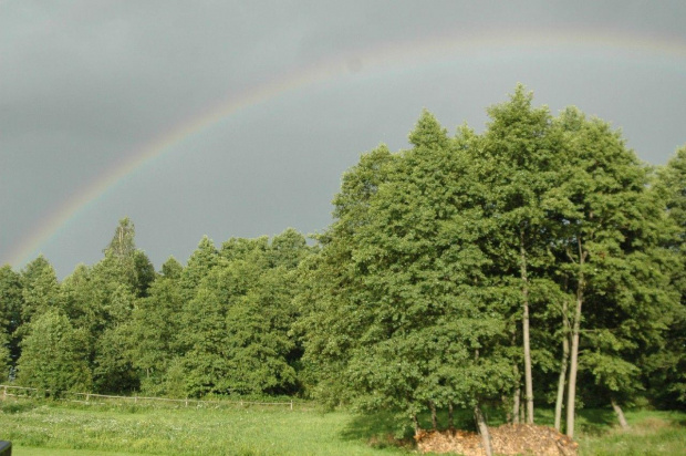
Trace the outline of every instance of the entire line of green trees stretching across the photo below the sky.
<path fill-rule="evenodd" d="M 0 269 L 0 377 L 169 397 L 299 394 L 398 423 L 505 407 L 686 406 L 686 147 L 641 163 L 518 85 L 484 133 L 423 112 L 363 154 L 313 236 L 208 239 L 156 272 L 123 219 L 62 282 Z"/>

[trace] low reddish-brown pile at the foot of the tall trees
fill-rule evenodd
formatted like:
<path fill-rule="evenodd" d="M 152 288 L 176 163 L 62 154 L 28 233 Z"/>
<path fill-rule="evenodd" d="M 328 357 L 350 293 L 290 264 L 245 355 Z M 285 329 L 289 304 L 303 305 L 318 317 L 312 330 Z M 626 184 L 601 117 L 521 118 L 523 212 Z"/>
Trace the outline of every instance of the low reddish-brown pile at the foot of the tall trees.
<path fill-rule="evenodd" d="M 576 456 L 576 443 L 552 427 L 505 424 L 491 427 L 493 453 L 498 455 Z M 485 456 L 481 436 L 465 431 L 420 432 L 415 436 L 423 453 L 457 453 Z"/>

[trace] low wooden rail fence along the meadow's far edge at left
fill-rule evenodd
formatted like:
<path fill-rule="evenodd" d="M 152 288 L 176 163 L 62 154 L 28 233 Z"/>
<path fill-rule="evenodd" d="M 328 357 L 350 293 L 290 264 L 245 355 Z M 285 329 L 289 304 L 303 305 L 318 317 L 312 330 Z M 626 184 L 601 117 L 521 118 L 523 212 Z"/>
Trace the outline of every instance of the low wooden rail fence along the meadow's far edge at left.
<path fill-rule="evenodd" d="M 49 390 L 38 390 L 33 387 L 25 386 L 13 386 L 13 385 L 0 385 L 0 398 L 6 401 L 9 397 L 14 398 L 32 398 L 40 397 L 44 393 L 49 393 Z M 94 393 L 63 393 L 62 400 L 70 402 L 79 402 L 82 404 L 105 404 L 110 402 L 115 403 L 128 403 L 128 404 L 139 404 L 139 405 L 152 405 L 152 404 L 175 404 L 178 406 L 188 407 L 190 405 L 195 407 L 220 407 L 220 406 L 248 406 L 248 405 L 259 405 L 259 406 L 288 406 L 290 410 L 293 410 L 293 401 L 289 402 L 260 402 L 260 401 L 207 401 L 207 400 L 196 400 L 196 398 L 185 398 L 185 400 L 174 400 L 174 398 L 165 398 L 165 397 L 148 397 L 148 396 L 113 396 L 107 394 L 94 394 Z"/>

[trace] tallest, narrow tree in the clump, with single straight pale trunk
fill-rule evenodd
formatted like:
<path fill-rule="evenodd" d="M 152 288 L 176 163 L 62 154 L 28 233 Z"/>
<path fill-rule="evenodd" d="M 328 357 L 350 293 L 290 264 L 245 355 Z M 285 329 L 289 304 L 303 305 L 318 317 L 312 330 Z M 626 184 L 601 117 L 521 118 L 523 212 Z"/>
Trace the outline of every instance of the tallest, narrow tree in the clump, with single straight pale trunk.
<path fill-rule="evenodd" d="M 489 183 L 489 216 L 498 225 L 493 239 L 496 271 L 507 288 L 519 289 L 527 422 L 533 423 L 530 313 L 534 281 L 544 280 L 550 227 L 542 201 L 555 185 L 560 138 L 548 107 L 532 107 L 533 94 L 519 84 L 510 100 L 488 108 L 490 122 L 482 152 Z"/>

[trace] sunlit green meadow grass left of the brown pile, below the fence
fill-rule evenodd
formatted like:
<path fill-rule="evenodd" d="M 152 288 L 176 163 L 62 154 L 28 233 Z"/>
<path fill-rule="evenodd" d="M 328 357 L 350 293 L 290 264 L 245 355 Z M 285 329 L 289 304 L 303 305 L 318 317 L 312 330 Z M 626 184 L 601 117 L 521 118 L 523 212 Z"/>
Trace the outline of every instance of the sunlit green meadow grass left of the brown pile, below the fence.
<path fill-rule="evenodd" d="M 370 446 L 373 436 L 360 429 L 351 414 L 314 410 L 164 410 L 18 402 L 0 406 L 0 433 L 2 439 L 12 441 L 17 455 L 24 454 L 22 448 L 96 452 L 84 455 L 407 454 L 393 446 Z"/>

